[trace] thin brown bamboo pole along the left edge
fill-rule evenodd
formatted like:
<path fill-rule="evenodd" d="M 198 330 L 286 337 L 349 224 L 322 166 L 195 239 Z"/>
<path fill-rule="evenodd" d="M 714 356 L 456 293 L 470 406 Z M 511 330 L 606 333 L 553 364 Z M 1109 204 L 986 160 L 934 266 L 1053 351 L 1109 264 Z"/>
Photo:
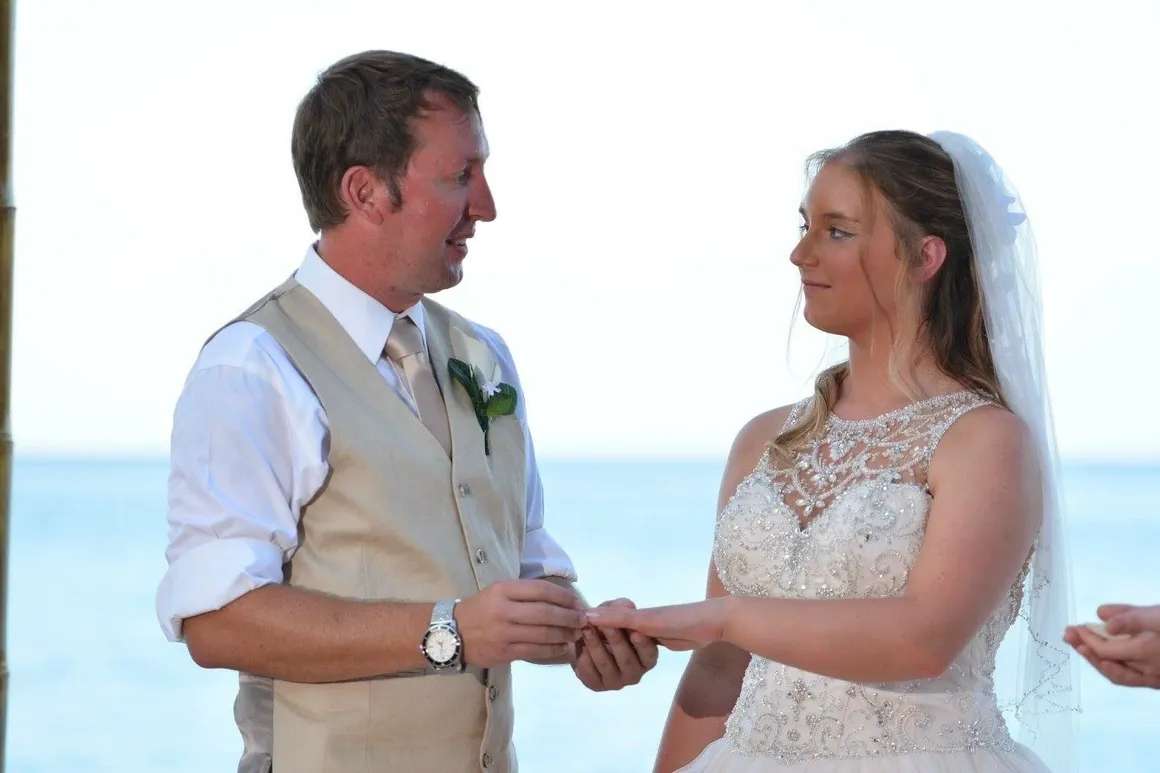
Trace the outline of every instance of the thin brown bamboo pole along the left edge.
<path fill-rule="evenodd" d="M 16 201 L 12 190 L 12 81 L 15 0 L 0 0 L 0 773 L 5 770 L 8 727 L 8 535 L 12 484 L 12 296 L 13 230 Z"/>

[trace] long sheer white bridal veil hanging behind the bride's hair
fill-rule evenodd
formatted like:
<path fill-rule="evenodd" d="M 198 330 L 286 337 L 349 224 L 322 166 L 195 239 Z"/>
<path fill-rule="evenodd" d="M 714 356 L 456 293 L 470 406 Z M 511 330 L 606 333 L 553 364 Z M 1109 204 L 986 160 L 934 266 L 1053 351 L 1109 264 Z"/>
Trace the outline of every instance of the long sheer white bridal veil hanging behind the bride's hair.
<path fill-rule="evenodd" d="M 1023 650 L 1018 684 L 1006 708 L 1018 722 L 1020 742 L 1035 750 L 1053 773 L 1065 773 L 1072 757 L 1079 684 L 1075 658 L 1063 643 L 1071 622 L 1070 564 L 1044 366 L 1035 238 L 1018 194 L 986 151 L 952 132 L 938 131 L 930 138 L 955 161 L 1000 388 L 1012 411 L 1031 428 L 1043 471 L 1043 525 L 1020 616 L 1009 636 Z"/>

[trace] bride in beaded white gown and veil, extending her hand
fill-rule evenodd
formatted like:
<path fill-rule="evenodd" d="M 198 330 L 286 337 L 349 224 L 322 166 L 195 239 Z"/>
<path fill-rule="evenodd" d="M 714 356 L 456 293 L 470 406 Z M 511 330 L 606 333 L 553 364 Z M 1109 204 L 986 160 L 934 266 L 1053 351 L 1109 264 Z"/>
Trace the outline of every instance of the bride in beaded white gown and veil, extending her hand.
<path fill-rule="evenodd" d="M 1020 201 L 949 132 L 864 135 L 812 172 L 791 261 L 849 359 L 738 434 L 706 600 L 590 623 L 696 650 L 657 773 L 1063 773 L 1076 695 Z M 1023 628 L 1008 706 L 996 653 Z"/>

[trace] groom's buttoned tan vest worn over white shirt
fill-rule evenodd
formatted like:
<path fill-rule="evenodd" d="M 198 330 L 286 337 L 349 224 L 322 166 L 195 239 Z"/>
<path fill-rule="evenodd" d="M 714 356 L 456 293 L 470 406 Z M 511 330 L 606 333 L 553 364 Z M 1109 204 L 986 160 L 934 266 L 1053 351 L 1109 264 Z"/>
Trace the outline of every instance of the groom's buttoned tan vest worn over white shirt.
<path fill-rule="evenodd" d="M 451 356 L 472 328 L 423 301 L 452 457 L 325 306 L 295 280 L 240 319 L 267 330 L 313 388 L 329 425 L 331 475 L 304 508 L 287 583 L 354 599 L 467 598 L 520 576 L 525 449 L 515 417 L 493 420 L 491 455 Z M 415 642 L 419 646 L 419 642 Z M 470 665 L 470 664 L 469 664 Z M 273 685 L 273 693 L 270 686 Z M 271 700 L 273 694 L 273 700 Z M 239 771 L 515 773 L 510 667 L 309 685 L 242 676 Z M 270 717 L 273 714 L 273 717 Z M 266 730 L 273 729 L 273 741 Z"/>

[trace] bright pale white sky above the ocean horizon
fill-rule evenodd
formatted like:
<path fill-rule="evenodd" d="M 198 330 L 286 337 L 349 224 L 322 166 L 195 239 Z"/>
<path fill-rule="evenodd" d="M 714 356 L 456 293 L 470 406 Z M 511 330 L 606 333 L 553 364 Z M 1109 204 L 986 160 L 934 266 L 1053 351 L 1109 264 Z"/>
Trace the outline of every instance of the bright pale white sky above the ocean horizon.
<path fill-rule="evenodd" d="M 312 238 L 297 101 L 390 48 L 481 88 L 499 218 L 436 297 L 507 339 L 542 455 L 719 456 L 806 393 L 803 161 L 907 128 L 971 135 L 1022 193 L 1063 453 L 1160 458 L 1154 1 L 16 9 L 17 453 L 166 453 L 204 338 Z"/>

